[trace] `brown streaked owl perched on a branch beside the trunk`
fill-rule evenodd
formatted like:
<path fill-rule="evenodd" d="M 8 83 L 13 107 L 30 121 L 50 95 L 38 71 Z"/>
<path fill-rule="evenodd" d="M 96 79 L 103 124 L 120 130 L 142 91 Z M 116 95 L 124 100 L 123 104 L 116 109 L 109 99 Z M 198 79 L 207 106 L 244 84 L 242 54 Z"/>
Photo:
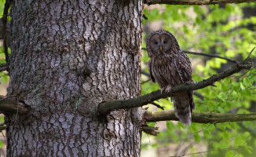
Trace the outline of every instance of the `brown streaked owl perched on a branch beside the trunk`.
<path fill-rule="evenodd" d="M 157 82 L 161 92 L 174 86 L 193 82 L 188 56 L 181 51 L 176 38 L 169 31 L 153 31 L 147 39 L 148 68 L 152 82 Z M 171 97 L 174 113 L 185 126 L 191 124 L 191 113 L 196 108 L 193 91 L 184 91 Z"/>

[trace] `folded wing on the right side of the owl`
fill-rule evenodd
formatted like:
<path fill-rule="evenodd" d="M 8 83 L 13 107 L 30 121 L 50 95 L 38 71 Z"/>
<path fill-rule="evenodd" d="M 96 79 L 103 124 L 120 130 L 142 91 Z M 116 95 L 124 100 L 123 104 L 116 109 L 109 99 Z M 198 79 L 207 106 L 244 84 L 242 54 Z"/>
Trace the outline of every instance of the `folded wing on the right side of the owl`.
<path fill-rule="evenodd" d="M 192 79 L 191 63 L 185 53 L 180 52 L 174 57 L 174 65 L 177 69 L 178 75 L 181 77 L 181 82 L 194 82 Z M 194 104 L 193 93 L 194 91 L 188 91 L 191 112 L 196 108 L 196 105 Z"/>

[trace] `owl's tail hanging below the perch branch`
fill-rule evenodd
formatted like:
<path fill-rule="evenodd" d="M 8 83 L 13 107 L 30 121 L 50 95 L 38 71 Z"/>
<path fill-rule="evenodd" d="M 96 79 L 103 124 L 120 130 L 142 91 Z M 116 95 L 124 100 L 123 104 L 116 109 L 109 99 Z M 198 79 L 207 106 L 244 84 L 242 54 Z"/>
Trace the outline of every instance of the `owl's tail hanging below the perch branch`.
<path fill-rule="evenodd" d="M 174 114 L 184 126 L 190 126 L 191 113 L 195 109 L 195 104 L 192 96 L 193 92 L 177 93 L 175 97 L 172 97 L 174 101 Z"/>

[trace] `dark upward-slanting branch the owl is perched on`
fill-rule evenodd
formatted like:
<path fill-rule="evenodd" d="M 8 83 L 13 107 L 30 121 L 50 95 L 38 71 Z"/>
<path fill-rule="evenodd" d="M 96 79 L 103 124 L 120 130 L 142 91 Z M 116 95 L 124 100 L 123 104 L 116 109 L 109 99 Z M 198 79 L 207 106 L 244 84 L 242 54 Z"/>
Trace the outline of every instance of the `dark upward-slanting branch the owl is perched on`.
<path fill-rule="evenodd" d="M 254 49 L 251 50 L 251 53 Z M 213 75 L 209 79 L 205 79 L 201 82 L 185 83 L 179 86 L 175 86 L 172 89 L 170 89 L 170 92 L 168 93 L 161 93 L 160 90 L 157 90 L 152 93 L 145 94 L 144 96 L 135 97 L 128 100 L 110 100 L 110 101 L 99 104 L 98 112 L 100 115 L 106 115 L 110 111 L 114 111 L 114 110 L 141 107 L 145 104 L 150 104 L 155 100 L 174 96 L 175 93 L 179 93 L 181 91 L 190 91 L 190 90 L 202 89 L 206 86 L 212 86 L 214 85 L 214 82 L 220 81 L 221 79 L 225 79 L 230 75 L 233 75 L 243 69 L 250 69 L 253 66 L 253 64 L 251 64 L 251 59 L 250 59 L 251 53 L 249 53 L 247 59 L 244 60 L 242 63 L 236 64 L 236 66 L 234 66 L 233 68 L 223 71 L 218 75 Z"/>

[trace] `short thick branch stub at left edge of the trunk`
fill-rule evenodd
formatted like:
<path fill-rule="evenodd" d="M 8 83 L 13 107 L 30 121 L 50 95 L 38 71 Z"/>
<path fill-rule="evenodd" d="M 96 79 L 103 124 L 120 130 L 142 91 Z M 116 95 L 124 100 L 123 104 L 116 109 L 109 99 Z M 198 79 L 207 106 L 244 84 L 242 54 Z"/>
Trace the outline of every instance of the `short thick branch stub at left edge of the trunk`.
<path fill-rule="evenodd" d="M 7 100 L 7 97 L 0 99 L 0 111 L 3 113 L 14 113 L 19 115 L 27 114 L 29 109 L 27 106 L 17 100 Z"/>

